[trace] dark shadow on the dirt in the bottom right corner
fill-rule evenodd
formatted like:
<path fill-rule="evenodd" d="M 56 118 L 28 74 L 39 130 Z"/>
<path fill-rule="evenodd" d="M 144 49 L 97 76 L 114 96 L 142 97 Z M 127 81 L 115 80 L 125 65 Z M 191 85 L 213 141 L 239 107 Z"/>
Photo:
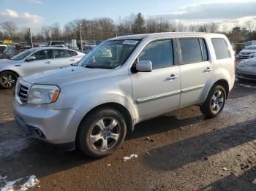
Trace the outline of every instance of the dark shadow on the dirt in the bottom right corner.
<path fill-rule="evenodd" d="M 256 168 L 252 167 L 245 171 L 241 176 L 235 176 L 230 174 L 223 179 L 219 179 L 216 182 L 208 184 L 207 186 L 200 187 L 197 191 L 214 191 L 214 190 L 256 190 L 256 184 L 252 182 L 256 179 Z"/>

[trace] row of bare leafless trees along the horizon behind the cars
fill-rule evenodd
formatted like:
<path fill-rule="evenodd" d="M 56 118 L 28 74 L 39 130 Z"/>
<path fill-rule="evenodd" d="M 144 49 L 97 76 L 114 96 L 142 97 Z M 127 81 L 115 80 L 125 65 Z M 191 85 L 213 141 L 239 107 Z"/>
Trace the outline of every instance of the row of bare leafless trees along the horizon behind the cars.
<path fill-rule="evenodd" d="M 30 28 L 18 28 L 15 23 L 1 23 L 0 39 L 18 39 L 20 41 L 30 41 L 30 36 L 34 42 L 47 42 L 49 40 L 80 39 L 80 31 L 83 40 L 102 41 L 113 36 L 129 34 L 145 34 L 157 32 L 211 32 L 227 35 L 231 42 L 245 42 L 256 39 L 256 26 L 248 20 L 244 26 L 236 26 L 227 31 L 227 26 L 220 28 L 218 23 L 203 23 L 200 25 L 185 26 L 172 20 L 165 20 L 162 17 L 143 17 L 141 13 L 131 14 L 127 17 L 119 17 L 116 22 L 109 17 L 100 17 L 92 20 L 77 19 L 66 23 L 61 28 L 59 23 L 51 26 L 42 26 L 37 30 Z M 30 34 L 31 33 L 31 34 Z"/>

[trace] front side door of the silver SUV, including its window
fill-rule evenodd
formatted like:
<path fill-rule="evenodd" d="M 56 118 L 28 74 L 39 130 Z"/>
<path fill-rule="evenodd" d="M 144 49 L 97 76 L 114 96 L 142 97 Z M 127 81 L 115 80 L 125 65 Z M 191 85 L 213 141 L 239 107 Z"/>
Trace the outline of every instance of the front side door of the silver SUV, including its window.
<path fill-rule="evenodd" d="M 180 68 L 174 64 L 173 41 L 149 43 L 138 61 L 151 61 L 151 72 L 131 74 L 139 121 L 178 109 L 180 98 Z"/>

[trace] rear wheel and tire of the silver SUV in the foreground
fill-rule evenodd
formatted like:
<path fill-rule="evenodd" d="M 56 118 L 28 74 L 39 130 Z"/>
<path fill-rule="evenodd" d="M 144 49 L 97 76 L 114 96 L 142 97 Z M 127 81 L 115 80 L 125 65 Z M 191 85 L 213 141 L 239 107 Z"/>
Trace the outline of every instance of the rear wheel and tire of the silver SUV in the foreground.
<path fill-rule="evenodd" d="M 221 93 L 221 95 L 219 95 L 219 93 Z M 214 98 L 216 98 L 215 101 Z M 206 101 L 200 106 L 200 111 L 206 117 L 217 117 L 222 112 L 222 109 L 225 106 L 226 98 L 227 93 L 225 91 L 225 88 L 221 85 L 214 85 L 214 87 L 211 87 L 211 90 L 207 95 Z"/>

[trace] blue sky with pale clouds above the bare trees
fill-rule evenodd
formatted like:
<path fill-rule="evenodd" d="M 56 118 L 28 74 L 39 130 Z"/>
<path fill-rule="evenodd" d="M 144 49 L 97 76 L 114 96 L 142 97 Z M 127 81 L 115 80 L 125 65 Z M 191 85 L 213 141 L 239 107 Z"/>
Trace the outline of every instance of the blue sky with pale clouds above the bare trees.
<path fill-rule="evenodd" d="M 126 17 L 141 12 L 145 17 L 190 24 L 220 23 L 233 27 L 252 20 L 256 27 L 256 0 L 0 0 L 0 23 L 19 27 L 65 23 L 80 18 Z"/>

